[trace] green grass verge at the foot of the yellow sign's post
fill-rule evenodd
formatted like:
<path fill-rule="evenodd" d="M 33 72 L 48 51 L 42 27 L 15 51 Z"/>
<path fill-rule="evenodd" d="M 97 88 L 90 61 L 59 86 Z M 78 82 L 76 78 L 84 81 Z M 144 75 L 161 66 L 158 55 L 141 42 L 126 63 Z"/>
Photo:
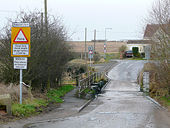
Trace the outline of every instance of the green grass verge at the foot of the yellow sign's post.
<path fill-rule="evenodd" d="M 66 93 L 74 89 L 72 85 L 64 85 L 57 89 L 51 89 L 47 92 L 47 99 L 25 100 L 23 104 L 13 103 L 12 114 L 16 117 L 29 117 L 43 111 L 49 103 L 62 103 Z"/>

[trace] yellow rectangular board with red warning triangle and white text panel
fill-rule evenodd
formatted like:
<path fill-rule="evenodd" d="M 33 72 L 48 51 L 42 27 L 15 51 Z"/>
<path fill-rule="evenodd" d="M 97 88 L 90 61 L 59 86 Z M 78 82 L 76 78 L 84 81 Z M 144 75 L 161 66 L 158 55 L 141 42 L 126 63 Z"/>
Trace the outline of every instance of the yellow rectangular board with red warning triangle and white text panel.
<path fill-rule="evenodd" d="M 11 28 L 11 56 L 30 57 L 30 27 Z"/>

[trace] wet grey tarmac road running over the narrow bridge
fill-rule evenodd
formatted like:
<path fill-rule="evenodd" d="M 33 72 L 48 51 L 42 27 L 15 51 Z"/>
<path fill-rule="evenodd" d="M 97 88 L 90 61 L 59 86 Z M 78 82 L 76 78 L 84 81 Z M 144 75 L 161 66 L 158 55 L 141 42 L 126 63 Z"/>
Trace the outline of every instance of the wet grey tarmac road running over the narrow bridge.
<path fill-rule="evenodd" d="M 35 124 L 34 128 L 170 128 L 170 113 L 148 100 L 136 84 L 145 61 L 119 61 L 111 82 L 84 113 Z M 93 109 L 92 109 L 93 108 Z M 82 111 L 82 113 L 83 113 Z"/>

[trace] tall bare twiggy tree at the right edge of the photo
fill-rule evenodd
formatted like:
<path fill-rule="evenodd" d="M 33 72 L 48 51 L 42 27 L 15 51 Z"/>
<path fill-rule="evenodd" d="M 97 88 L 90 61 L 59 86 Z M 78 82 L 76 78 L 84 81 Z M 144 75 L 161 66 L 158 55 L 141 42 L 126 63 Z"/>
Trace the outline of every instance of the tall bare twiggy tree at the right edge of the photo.
<path fill-rule="evenodd" d="M 158 25 L 157 32 L 151 40 L 152 58 L 157 60 L 156 80 L 158 91 L 163 88 L 170 95 L 170 0 L 158 0 L 153 4 L 149 15 L 151 24 Z"/>

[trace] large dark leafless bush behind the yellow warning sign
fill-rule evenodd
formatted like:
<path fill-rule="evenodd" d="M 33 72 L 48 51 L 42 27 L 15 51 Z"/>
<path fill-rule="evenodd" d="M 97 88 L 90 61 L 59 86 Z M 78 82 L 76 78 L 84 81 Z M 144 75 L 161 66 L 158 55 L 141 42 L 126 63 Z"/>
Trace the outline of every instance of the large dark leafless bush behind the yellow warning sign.
<path fill-rule="evenodd" d="M 64 43 L 67 39 L 64 26 L 59 18 L 49 17 L 48 30 L 45 30 L 40 12 L 21 12 L 16 21 L 28 22 L 31 27 L 31 57 L 28 59 L 28 69 L 23 72 L 23 81 L 42 90 L 55 88 L 72 58 L 69 46 Z M 11 31 L 5 27 L 0 44 L 0 81 L 19 83 L 19 71 L 13 69 L 10 44 Z"/>

